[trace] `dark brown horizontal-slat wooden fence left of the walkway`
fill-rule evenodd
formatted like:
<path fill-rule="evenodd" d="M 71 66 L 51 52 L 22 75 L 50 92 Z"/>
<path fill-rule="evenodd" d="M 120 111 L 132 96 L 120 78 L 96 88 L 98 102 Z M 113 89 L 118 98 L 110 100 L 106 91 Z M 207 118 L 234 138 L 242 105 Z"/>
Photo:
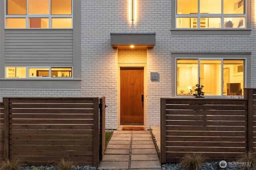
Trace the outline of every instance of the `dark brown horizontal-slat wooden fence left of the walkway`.
<path fill-rule="evenodd" d="M 64 158 L 98 167 L 99 105 L 99 98 L 3 98 L 1 160 L 49 165 Z"/>

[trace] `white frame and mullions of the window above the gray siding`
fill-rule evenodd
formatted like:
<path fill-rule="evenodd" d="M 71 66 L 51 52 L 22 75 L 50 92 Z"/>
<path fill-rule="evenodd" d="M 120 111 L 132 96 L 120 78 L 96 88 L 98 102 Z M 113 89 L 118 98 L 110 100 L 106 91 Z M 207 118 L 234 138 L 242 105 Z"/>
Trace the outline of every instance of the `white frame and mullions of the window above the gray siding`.
<path fill-rule="evenodd" d="M 71 0 L 71 14 L 63 15 L 63 14 L 51 14 L 51 0 L 49 0 L 49 14 L 28 14 L 28 0 L 26 0 L 26 8 L 27 14 L 20 15 L 7 15 L 7 0 L 4 0 L 4 28 L 5 29 L 73 29 L 73 0 Z M 26 28 L 7 28 L 6 27 L 6 18 L 25 18 L 26 19 Z M 48 28 L 30 28 L 29 27 L 29 19 L 30 18 L 48 18 L 49 27 Z M 71 28 L 52 28 L 52 18 L 71 18 Z"/>

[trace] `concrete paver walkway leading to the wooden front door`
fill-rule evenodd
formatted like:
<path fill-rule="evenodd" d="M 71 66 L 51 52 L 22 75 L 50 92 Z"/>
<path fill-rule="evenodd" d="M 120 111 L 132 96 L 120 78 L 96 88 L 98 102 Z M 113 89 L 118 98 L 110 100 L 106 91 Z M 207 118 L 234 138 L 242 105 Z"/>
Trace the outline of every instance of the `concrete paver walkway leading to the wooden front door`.
<path fill-rule="evenodd" d="M 98 169 L 161 170 L 150 131 L 114 131 Z"/>

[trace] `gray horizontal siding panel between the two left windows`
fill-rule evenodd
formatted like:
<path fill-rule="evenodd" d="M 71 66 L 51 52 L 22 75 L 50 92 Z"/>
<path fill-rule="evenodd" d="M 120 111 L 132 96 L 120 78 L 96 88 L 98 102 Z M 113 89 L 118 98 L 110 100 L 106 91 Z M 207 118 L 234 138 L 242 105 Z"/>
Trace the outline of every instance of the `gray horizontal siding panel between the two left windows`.
<path fill-rule="evenodd" d="M 6 66 L 72 66 L 73 30 L 5 31 Z"/>

